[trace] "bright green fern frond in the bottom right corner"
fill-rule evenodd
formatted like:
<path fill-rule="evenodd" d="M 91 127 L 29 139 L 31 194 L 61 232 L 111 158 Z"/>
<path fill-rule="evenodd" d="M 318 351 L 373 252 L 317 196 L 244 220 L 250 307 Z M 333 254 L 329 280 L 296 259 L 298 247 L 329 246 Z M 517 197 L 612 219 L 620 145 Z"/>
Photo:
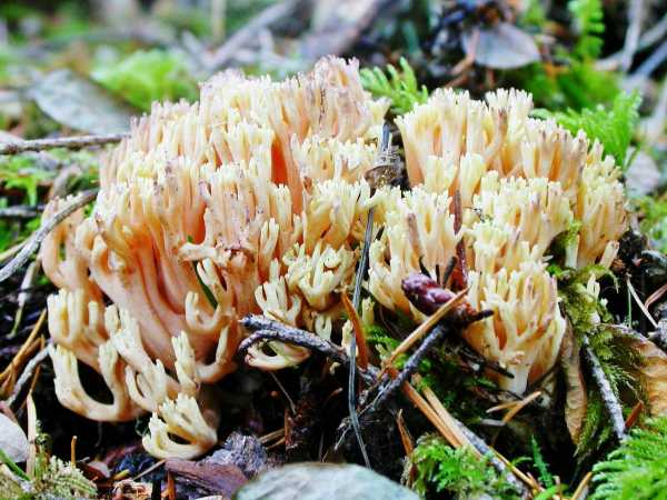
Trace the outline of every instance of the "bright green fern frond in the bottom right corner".
<path fill-rule="evenodd" d="M 650 420 L 593 468 L 593 500 L 667 499 L 667 418 Z"/>

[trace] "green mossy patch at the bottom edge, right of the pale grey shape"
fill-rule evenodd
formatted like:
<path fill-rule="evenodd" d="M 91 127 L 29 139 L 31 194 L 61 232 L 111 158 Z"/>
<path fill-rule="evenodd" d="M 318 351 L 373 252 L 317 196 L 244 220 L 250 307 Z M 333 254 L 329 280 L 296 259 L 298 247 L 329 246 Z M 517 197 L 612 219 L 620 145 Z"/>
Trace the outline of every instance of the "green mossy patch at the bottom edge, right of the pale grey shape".
<path fill-rule="evenodd" d="M 519 498 L 507 479 L 494 469 L 488 457 L 480 458 L 468 448 L 451 448 L 439 437 L 419 439 L 412 463 L 417 468 L 414 487 L 421 497 L 428 492 L 447 492 L 457 498 L 485 494 L 497 499 Z"/>

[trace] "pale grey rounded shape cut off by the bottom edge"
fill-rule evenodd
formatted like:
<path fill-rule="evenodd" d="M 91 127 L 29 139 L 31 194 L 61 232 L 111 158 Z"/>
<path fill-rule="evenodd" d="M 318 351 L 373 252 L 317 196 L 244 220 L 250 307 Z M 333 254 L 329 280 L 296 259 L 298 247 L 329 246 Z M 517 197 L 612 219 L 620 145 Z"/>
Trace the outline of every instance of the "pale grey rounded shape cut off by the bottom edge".
<path fill-rule="evenodd" d="M 303 462 L 271 469 L 242 487 L 233 500 L 417 500 L 416 493 L 364 467 Z"/>

